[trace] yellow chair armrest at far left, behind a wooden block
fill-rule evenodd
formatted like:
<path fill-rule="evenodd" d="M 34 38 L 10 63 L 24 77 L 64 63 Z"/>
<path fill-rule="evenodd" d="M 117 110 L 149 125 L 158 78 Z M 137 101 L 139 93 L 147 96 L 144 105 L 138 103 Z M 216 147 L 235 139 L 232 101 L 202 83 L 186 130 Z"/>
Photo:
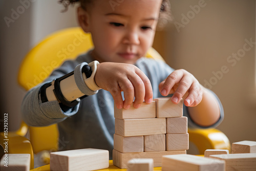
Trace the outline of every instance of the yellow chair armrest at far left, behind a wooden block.
<path fill-rule="evenodd" d="M 4 133 L 1 132 L 0 137 L 0 144 L 8 151 L 8 154 L 30 154 L 30 169 L 34 168 L 34 153 L 32 145 L 27 138 L 17 135 L 14 132 L 8 132 L 7 138 L 5 138 Z"/>

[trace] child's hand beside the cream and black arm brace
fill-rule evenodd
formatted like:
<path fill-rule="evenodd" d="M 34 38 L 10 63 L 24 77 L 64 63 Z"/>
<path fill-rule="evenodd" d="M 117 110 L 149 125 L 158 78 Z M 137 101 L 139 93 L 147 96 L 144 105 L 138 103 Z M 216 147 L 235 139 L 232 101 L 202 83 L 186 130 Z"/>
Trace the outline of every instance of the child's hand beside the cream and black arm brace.
<path fill-rule="evenodd" d="M 112 94 L 118 109 L 129 109 L 134 97 L 134 108 L 139 108 L 144 100 L 146 103 L 153 100 L 150 80 L 134 65 L 102 62 L 97 66 L 94 80 L 101 89 Z M 124 101 L 121 91 L 124 94 Z"/>

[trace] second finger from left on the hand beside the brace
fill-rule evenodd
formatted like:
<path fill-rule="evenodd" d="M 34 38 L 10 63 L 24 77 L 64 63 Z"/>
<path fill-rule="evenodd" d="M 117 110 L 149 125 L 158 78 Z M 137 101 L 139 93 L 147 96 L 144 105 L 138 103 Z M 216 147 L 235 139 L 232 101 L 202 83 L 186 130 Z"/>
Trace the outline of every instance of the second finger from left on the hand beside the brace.
<path fill-rule="evenodd" d="M 123 109 L 129 109 L 134 100 L 134 86 L 132 82 L 127 78 L 118 81 L 118 84 L 123 91 Z"/>

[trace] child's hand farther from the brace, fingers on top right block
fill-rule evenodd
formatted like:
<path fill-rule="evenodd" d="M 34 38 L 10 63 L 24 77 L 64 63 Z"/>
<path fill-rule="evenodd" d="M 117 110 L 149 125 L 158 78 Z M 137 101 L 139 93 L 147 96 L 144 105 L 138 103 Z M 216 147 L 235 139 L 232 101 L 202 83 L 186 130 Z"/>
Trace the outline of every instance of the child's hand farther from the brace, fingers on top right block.
<path fill-rule="evenodd" d="M 203 86 L 186 70 L 180 69 L 172 72 L 159 84 L 159 91 L 163 96 L 173 94 L 172 101 L 177 104 L 185 96 L 184 104 L 194 107 L 203 97 Z"/>

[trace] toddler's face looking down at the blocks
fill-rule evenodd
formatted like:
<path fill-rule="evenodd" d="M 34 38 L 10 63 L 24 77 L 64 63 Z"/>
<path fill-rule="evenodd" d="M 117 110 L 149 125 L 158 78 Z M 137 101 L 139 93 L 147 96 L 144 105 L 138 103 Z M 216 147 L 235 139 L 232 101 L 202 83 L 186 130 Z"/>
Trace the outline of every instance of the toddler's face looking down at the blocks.
<path fill-rule="evenodd" d="M 153 44 L 162 0 L 114 1 L 116 6 L 110 2 L 94 0 L 82 12 L 86 22 L 79 22 L 92 33 L 92 55 L 100 62 L 135 63 Z"/>

